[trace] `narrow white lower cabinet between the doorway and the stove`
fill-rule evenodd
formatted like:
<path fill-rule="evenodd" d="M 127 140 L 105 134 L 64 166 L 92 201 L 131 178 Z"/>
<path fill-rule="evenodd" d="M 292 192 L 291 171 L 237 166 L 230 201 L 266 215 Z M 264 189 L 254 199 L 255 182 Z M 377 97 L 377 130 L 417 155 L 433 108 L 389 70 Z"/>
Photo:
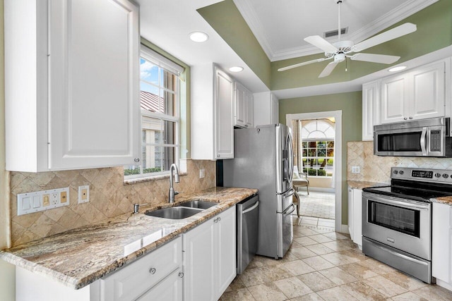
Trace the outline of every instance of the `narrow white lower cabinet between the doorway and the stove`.
<path fill-rule="evenodd" d="M 362 190 L 348 188 L 348 231 L 350 238 L 362 249 Z"/>

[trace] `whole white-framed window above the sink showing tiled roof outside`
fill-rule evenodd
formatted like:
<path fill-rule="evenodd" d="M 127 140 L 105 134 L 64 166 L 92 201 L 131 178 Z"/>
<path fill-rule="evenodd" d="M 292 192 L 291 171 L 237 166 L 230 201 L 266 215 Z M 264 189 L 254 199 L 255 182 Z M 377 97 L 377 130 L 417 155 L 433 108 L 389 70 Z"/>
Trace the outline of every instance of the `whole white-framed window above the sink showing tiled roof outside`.
<path fill-rule="evenodd" d="M 141 47 L 141 164 L 124 166 L 125 179 L 165 174 L 171 164 L 178 163 L 182 70 L 160 54 Z"/>

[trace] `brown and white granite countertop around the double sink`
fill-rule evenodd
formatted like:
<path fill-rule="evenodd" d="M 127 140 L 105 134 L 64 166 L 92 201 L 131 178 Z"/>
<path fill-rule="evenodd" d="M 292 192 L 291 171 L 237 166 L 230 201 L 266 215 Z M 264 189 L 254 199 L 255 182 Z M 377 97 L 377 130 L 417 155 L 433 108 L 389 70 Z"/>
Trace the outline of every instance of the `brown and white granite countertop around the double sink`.
<path fill-rule="evenodd" d="M 85 226 L 0 251 L 0 258 L 24 269 L 50 276 L 79 289 L 130 264 L 144 254 L 189 231 L 237 202 L 255 195 L 257 189 L 210 188 L 177 197 L 174 204 L 203 199 L 218 205 L 186 219 L 146 216 L 145 211 L 172 207 L 143 207 L 138 214 L 118 216 L 117 221 Z"/>

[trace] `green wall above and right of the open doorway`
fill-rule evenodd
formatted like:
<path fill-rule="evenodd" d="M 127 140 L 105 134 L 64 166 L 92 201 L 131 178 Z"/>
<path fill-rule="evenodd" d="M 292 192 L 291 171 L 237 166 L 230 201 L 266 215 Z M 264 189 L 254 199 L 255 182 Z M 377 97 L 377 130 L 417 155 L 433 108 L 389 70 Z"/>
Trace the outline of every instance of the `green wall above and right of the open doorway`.
<path fill-rule="evenodd" d="M 362 140 L 362 92 L 280 99 L 280 123 L 286 114 L 342 111 L 342 223 L 347 224 L 347 142 Z"/>

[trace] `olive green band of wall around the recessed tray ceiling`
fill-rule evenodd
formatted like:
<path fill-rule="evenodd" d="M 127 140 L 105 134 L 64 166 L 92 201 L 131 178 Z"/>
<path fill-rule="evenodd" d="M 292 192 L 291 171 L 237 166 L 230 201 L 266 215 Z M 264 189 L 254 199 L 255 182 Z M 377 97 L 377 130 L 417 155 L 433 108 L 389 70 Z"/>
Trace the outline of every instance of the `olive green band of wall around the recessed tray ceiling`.
<path fill-rule="evenodd" d="M 347 60 L 347 72 L 345 72 L 345 62 L 343 62 L 326 78 L 318 78 L 318 75 L 329 61 L 278 72 L 278 68 L 324 56 L 314 54 L 270 62 L 232 0 L 200 8 L 198 12 L 270 90 L 346 82 L 391 66 L 381 63 L 350 61 L 349 59 Z M 401 56 L 401 59 L 396 62 L 401 63 L 452 44 L 452 0 L 439 0 L 388 29 L 406 22 L 416 24 L 417 31 L 366 49 L 364 53 Z"/>

